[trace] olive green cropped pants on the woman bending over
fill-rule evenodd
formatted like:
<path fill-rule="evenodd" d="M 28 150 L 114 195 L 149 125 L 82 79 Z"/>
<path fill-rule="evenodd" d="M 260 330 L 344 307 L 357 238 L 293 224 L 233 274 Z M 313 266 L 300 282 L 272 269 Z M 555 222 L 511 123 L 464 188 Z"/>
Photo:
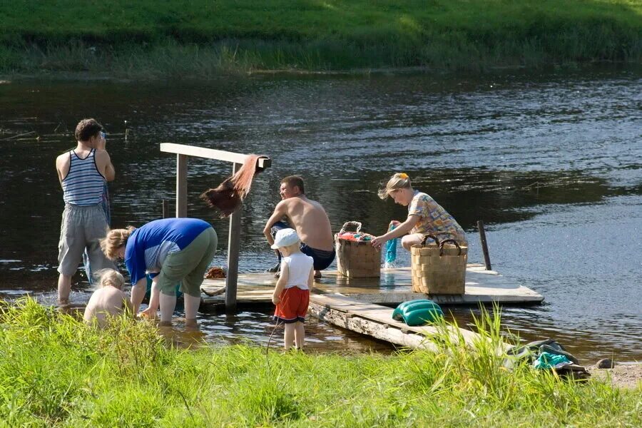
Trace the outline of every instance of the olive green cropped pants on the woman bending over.
<path fill-rule="evenodd" d="M 168 254 L 158 274 L 158 290 L 165 295 L 175 295 L 176 284 L 181 282 L 180 291 L 200 297 L 200 285 L 214 258 L 217 244 L 216 231 L 207 228 L 183 250 Z"/>

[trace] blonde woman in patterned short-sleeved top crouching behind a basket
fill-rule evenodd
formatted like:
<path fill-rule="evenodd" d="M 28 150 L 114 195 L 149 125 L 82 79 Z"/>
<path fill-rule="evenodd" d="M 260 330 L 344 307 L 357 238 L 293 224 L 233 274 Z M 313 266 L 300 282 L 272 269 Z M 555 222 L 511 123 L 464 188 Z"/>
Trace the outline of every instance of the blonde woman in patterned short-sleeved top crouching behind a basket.
<path fill-rule="evenodd" d="M 426 193 L 414 190 L 410 178 L 405 173 L 396 173 L 388 180 L 385 188 L 379 190 L 379 198 L 391 197 L 395 203 L 408 207 L 408 218 L 388 233 L 372 240 L 374 247 L 381 247 L 386 241 L 402 237 L 406 250 L 414 244 L 422 243 L 427 234 L 435 235 L 440 241 L 454 239 L 459 245 L 468 245 L 462 226 Z"/>

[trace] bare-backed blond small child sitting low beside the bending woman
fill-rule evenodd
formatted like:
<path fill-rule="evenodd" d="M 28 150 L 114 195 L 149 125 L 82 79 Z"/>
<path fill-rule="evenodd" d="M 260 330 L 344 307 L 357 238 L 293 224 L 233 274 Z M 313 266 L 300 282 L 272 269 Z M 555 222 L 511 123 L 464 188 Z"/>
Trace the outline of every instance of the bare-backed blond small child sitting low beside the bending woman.
<path fill-rule="evenodd" d="M 131 312 L 133 307 L 123 292 L 123 275 L 113 269 L 103 269 L 96 272 L 96 276 L 100 278 L 100 288 L 91 295 L 83 319 L 87 324 L 97 322 L 98 327 L 103 328 L 109 317 L 121 314 L 125 308 Z"/>

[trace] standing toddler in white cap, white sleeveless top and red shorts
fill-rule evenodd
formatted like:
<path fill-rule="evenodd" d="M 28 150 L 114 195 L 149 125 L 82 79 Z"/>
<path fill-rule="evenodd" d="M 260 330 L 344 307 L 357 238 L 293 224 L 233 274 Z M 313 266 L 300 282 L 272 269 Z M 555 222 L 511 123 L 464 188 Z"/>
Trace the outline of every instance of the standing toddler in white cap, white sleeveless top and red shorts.
<path fill-rule="evenodd" d="M 300 246 L 299 235 L 294 229 L 279 230 L 272 245 L 272 249 L 279 250 L 283 256 L 272 303 L 276 305 L 275 321 L 285 323 L 285 350 L 292 347 L 292 342 L 295 349 L 303 349 L 303 322 L 310 304 L 310 287 L 315 281 L 314 260 L 301 253 Z"/>

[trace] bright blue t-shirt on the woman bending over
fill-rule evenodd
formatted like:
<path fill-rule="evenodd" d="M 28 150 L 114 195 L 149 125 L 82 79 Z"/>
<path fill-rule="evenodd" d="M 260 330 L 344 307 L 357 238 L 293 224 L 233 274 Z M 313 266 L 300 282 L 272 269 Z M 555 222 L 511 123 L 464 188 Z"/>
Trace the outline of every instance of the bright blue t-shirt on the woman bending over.
<path fill-rule="evenodd" d="M 147 272 L 161 272 L 168 254 L 183 250 L 203 230 L 211 227 L 210 223 L 198 218 L 163 218 L 134 230 L 125 247 L 125 265 L 132 285 Z"/>

